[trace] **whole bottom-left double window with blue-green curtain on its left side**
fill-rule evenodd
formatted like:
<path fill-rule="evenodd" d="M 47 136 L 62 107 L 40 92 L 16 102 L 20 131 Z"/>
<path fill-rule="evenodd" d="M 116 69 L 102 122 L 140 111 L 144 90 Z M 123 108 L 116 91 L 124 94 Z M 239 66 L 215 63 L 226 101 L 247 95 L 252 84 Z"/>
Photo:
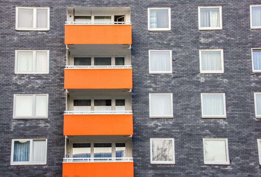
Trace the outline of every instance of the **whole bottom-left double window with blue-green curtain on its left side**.
<path fill-rule="evenodd" d="M 11 165 L 46 164 L 47 139 L 13 139 Z"/>

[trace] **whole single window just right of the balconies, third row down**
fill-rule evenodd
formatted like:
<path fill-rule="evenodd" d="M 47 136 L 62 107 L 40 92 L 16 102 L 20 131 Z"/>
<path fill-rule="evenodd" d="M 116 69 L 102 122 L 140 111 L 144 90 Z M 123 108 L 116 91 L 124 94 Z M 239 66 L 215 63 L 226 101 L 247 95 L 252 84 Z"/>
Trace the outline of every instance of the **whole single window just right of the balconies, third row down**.
<path fill-rule="evenodd" d="M 149 94 L 149 117 L 173 117 L 172 94 Z"/>

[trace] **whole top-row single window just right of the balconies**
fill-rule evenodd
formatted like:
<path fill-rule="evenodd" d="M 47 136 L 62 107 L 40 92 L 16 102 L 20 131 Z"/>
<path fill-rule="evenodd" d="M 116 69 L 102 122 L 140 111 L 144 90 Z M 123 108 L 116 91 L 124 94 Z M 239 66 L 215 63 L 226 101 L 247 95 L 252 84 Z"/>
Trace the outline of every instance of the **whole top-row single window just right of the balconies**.
<path fill-rule="evenodd" d="M 148 30 L 169 31 L 170 8 L 148 8 Z"/>

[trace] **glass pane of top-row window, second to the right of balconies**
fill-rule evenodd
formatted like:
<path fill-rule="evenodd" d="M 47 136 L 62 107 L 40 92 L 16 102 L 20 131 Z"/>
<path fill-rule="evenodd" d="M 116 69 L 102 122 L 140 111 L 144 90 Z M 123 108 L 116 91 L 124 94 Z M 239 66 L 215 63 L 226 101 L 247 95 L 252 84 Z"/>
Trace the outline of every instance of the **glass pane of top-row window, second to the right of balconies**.
<path fill-rule="evenodd" d="M 220 27 L 219 8 L 200 8 L 200 27 Z"/>

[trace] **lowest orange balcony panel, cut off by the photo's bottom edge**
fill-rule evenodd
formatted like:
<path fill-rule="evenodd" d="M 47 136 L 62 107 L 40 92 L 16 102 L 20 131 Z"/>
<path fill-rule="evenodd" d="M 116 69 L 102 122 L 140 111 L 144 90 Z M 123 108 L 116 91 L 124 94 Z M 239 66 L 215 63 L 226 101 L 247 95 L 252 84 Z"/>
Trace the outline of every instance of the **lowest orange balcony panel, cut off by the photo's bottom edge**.
<path fill-rule="evenodd" d="M 63 163 L 63 177 L 133 177 L 133 162 Z"/>

